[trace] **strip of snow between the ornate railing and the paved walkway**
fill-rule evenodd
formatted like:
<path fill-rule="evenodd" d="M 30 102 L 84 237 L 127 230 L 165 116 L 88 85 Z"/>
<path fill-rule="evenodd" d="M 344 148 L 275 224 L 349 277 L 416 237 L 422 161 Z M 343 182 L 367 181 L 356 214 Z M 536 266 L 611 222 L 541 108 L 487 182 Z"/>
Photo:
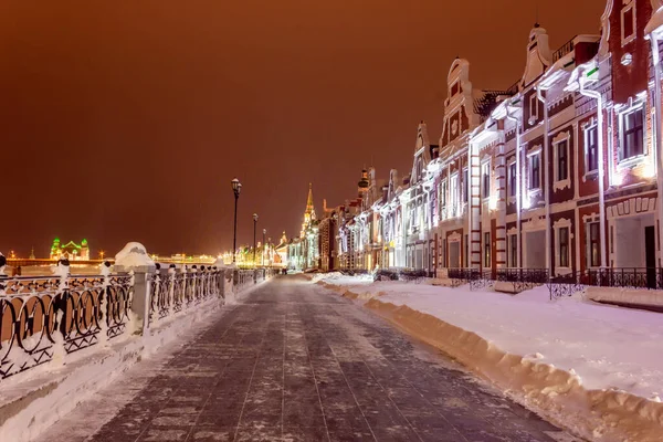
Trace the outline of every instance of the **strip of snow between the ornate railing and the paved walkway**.
<path fill-rule="evenodd" d="M 147 335 L 127 335 L 105 346 L 67 355 L 66 364 L 64 355 L 61 360 L 54 357 L 49 364 L 3 380 L 0 411 L 4 411 L 2 407 L 14 407 L 15 412 L 1 422 L 0 441 L 34 440 L 78 403 L 93 398 L 123 376 L 129 367 L 158 354 L 165 346 L 181 343 L 187 330 L 209 326 L 218 317 L 220 307 L 219 299 L 209 299 L 188 309 L 186 315 L 158 323 Z M 60 334 L 54 336 L 61 337 Z"/>

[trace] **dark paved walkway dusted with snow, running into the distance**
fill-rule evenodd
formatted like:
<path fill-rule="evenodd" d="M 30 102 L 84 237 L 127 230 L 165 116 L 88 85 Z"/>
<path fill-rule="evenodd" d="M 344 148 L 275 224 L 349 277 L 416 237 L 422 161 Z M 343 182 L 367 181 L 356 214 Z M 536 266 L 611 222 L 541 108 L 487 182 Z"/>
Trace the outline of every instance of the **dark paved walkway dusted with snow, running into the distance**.
<path fill-rule="evenodd" d="M 352 303 L 273 280 L 43 441 L 571 441 Z"/>

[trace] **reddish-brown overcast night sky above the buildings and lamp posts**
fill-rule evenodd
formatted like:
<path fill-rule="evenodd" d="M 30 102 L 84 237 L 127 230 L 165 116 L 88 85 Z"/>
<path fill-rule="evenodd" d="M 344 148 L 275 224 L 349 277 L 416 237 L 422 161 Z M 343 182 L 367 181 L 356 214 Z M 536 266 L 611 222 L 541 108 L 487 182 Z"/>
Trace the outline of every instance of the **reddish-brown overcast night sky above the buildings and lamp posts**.
<path fill-rule="evenodd" d="M 606 0 L 539 3 L 554 50 L 600 32 Z M 535 4 L 2 0 L 0 251 L 218 253 L 234 176 L 240 243 L 253 212 L 298 234 L 309 181 L 320 212 L 365 165 L 410 169 L 421 119 L 438 140 L 456 55 L 475 87 L 517 81 Z"/>

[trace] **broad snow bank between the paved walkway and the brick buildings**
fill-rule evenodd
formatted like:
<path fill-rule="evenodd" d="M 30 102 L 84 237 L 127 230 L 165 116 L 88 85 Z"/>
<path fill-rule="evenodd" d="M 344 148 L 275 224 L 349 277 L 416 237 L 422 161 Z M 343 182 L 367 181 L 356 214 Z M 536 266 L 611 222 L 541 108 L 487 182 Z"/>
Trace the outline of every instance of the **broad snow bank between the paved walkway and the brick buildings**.
<path fill-rule="evenodd" d="M 663 315 L 348 276 L 318 282 L 440 348 L 593 441 L 663 441 Z"/>

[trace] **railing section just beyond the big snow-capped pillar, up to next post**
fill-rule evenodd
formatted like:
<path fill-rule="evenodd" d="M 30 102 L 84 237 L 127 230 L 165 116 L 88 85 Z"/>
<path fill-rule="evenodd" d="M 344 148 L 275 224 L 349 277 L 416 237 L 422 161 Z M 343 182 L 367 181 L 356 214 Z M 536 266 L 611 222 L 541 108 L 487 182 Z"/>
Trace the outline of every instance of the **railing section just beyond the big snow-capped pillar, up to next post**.
<path fill-rule="evenodd" d="M 154 323 L 172 316 L 207 299 L 223 296 L 224 271 L 215 266 L 176 269 L 171 264 L 162 270 L 156 264 L 150 277 L 149 322 Z"/>

